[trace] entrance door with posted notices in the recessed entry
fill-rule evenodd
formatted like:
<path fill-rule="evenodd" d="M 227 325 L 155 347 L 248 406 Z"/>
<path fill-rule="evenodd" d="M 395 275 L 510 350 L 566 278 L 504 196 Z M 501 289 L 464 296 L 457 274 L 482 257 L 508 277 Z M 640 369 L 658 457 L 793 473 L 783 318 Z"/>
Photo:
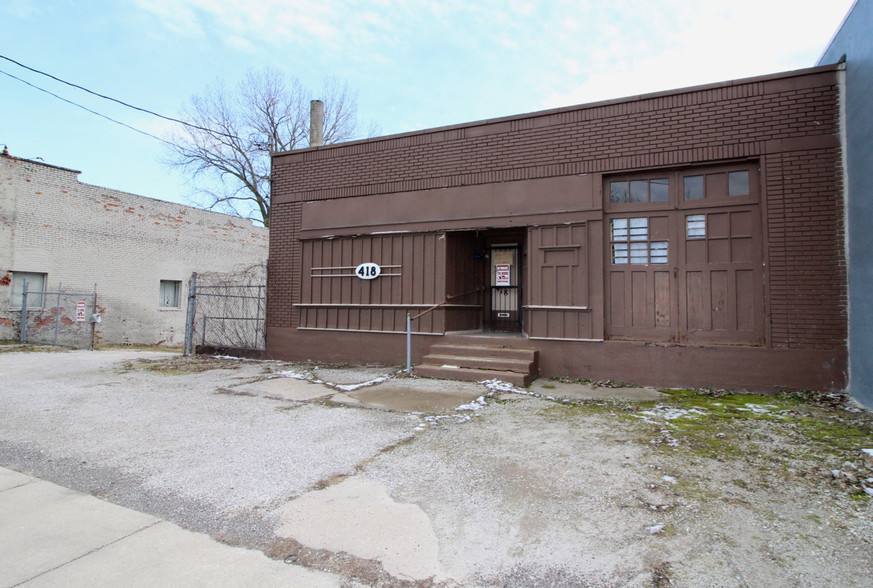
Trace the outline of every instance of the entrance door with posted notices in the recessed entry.
<path fill-rule="evenodd" d="M 486 327 L 490 331 L 521 331 L 521 267 L 517 243 L 489 247 L 491 296 Z"/>

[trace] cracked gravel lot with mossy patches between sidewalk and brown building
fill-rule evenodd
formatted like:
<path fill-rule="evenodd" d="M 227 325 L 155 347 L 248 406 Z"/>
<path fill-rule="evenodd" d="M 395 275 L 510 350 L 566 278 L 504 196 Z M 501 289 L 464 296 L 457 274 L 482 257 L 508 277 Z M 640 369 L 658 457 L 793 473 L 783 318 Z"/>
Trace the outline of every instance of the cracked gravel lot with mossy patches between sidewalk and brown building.
<path fill-rule="evenodd" d="M 0 352 L 0 465 L 348 586 L 871 586 L 840 395 Z"/>

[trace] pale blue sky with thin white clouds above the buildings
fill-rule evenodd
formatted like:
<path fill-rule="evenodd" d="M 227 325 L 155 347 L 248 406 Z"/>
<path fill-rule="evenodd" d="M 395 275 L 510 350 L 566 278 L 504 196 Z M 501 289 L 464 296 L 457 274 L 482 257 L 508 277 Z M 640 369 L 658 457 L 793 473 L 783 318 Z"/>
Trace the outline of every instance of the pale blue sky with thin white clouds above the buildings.
<path fill-rule="evenodd" d="M 217 79 L 278 68 L 358 92 L 382 134 L 813 66 L 852 0 L 4 0 L 0 55 L 177 116 Z M 149 133 L 171 123 L 0 60 Z M 0 145 L 80 181 L 186 202 L 166 147 L 0 74 Z"/>

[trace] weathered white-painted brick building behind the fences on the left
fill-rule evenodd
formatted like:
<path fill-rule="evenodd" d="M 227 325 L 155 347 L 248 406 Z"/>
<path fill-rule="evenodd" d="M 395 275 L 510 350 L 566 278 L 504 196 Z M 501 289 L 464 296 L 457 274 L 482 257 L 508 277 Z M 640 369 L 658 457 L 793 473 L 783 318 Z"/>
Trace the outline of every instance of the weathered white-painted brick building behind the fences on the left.
<path fill-rule="evenodd" d="M 31 291 L 96 284 L 96 342 L 182 345 L 192 272 L 266 262 L 269 232 L 251 221 L 82 184 L 79 173 L 0 156 L 0 339 L 18 338 L 28 279 Z"/>

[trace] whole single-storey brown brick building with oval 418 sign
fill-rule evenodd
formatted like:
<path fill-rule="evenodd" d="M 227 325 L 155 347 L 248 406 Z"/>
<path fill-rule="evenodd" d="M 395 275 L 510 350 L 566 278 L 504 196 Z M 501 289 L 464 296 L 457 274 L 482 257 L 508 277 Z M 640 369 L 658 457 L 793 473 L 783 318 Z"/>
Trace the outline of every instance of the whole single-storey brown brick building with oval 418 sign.
<path fill-rule="evenodd" d="M 268 351 L 400 364 L 407 314 L 444 303 L 416 364 L 517 347 L 542 375 L 843 388 L 842 75 L 276 154 Z"/>

